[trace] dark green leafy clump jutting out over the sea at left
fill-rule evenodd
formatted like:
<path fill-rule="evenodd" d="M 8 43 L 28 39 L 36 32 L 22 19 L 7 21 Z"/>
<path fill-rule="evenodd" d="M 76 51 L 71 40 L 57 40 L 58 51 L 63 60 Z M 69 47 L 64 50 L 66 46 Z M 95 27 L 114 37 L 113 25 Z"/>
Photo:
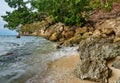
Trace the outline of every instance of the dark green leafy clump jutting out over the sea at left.
<path fill-rule="evenodd" d="M 3 20 L 7 22 L 5 27 L 9 29 L 16 29 L 19 24 L 26 24 L 33 22 L 33 13 L 25 8 L 19 8 L 11 12 L 6 12 L 6 15 L 2 16 Z"/>

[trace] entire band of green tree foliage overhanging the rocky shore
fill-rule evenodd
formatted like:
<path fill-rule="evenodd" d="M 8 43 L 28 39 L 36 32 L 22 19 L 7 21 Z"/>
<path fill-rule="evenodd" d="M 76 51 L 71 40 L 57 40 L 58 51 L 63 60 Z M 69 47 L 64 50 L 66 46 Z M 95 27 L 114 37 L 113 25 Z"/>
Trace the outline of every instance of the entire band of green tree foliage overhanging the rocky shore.
<path fill-rule="evenodd" d="M 2 16 L 7 22 L 5 27 L 16 29 L 19 24 L 25 25 L 44 20 L 52 16 L 56 22 L 69 26 L 82 26 L 89 18 L 92 9 L 105 8 L 111 10 L 114 0 L 5 0 L 13 12 Z M 31 3 L 31 8 L 26 5 Z M 32 9 L 37 10 L 32 12 Z"/>

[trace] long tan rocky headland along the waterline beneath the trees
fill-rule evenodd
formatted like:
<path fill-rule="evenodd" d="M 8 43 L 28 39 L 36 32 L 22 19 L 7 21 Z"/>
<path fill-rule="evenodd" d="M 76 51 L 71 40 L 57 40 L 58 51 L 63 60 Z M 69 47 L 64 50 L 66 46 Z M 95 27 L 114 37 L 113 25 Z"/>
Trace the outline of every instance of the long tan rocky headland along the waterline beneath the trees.
<path fill-rule="evenodd" d="M 87 38 L 93 31 L 91 27 L 66 26 L 64 23 L 54 23 L 47 17 L 41 22 L 26 24 L 21 28 L 21 35 L 33 35 L 44 37 L 50 41 L 59 42 L 62 46 L 79 44 L 82 38 Z"/>

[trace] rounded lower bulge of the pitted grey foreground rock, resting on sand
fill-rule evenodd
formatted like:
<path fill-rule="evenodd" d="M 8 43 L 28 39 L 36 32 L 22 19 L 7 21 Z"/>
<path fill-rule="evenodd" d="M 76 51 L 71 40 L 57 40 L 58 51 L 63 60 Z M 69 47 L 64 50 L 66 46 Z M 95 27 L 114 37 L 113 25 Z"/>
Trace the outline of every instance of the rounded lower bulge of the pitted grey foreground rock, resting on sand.
<path fill-rule="evenodd" d="M 75 73 L 80 79 L 108 83 L 111 70 L 107 67 L 105 60 L 93 57 L 81 60 L 77 65 Z"/>

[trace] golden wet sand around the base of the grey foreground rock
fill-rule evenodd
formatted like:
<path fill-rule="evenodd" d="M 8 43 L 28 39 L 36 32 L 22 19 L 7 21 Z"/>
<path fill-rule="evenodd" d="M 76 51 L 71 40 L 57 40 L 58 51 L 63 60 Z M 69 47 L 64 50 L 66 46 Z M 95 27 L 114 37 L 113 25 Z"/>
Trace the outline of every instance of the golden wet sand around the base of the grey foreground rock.
<path fill-rule="evenodd" d="M 39 83 L 98 83 L 88 80 L 81 80 L 74 75 L 74 69 L 78 62 L 78 54 L 63 57 L 59 60 L 51 62 L 48 64 L 49 68 L 40 79 Z M 115 83 L 115 81 L 120 77 L 120 70 L 111 67 L 111 64 L 112 62 L 109 62 L 108 64 L 110 69 L 113 71 L 112 76 L 109 79 L 109 83 Z"/>

